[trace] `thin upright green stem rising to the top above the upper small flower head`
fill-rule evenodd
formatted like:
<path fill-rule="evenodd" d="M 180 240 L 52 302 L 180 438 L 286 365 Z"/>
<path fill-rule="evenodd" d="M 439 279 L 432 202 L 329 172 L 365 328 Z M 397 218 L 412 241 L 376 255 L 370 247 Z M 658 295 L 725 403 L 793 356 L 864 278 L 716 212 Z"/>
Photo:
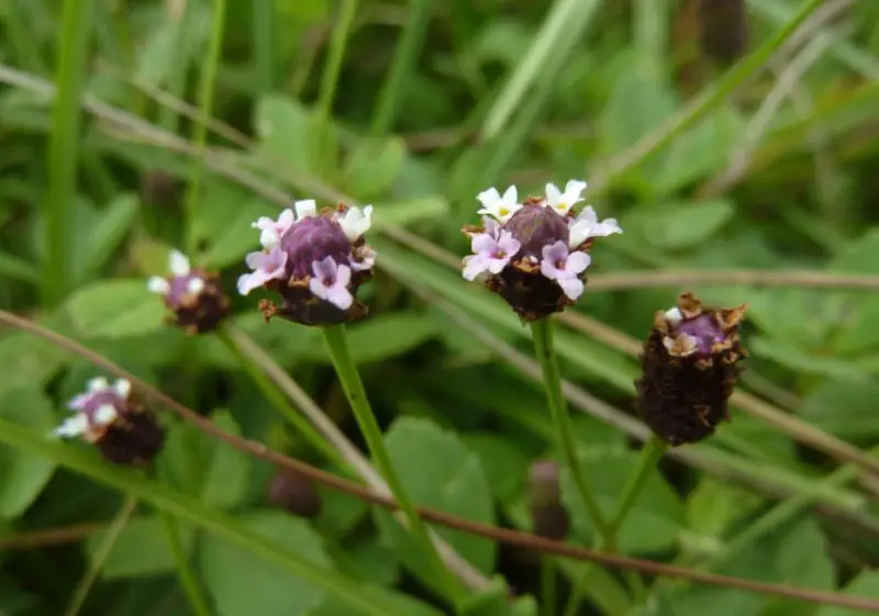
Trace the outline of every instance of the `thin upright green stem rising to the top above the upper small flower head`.
<path fill-rule="evenodd" d="M 201 72 L 199 83 L 199 109 L 200 119 L 194 123 L 192 130 L 192 142 L 198 148 L 200 156 L 196 157 L 189 173 L 189 189 L 186 195 L 187 225 L 187 251 L 190 257 L 198 253 L 196 245 L 196 217 L 198 214 L 199 199 L 201 197 L 201 177 L 204 170 L 204 146 L 208 139 L 208 126 L 205 117 L 211 116 L 213 109 L 213 90 L 216 81 L 216 72 L 220 67 L 220 56 L 223 51 L 223 33 L 225 31 L 226 0 L 214 0 L 213 21 L 211 23 L 211 40 L 208 45 L 208 57 L 205 58 L 204 69 Z"/>

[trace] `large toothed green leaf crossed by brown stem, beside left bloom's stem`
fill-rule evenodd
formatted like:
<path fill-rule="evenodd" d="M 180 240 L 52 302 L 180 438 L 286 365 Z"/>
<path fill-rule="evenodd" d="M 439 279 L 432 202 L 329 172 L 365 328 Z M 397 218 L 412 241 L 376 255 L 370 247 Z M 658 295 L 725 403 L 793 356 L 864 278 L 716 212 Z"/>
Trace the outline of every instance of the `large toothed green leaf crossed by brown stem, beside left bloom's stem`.
<path fill-rule="evenodd" d="M 455 433 L 427 419 L 400 417 L 385 441 L 403 489 L 414 503 L 475 522 L 494 523 L 491 492 L 479 457 Z M 425 583 L 435 584 L 435 575 L 424 569 L 424 557 L 405 530 L 388 513 L 375 515 L 383 540 L 399 550 L 401 560 L 420 572 Z M 447 528 L 436 530 L 480 571 L 493 570 L 493 542 Z"/>

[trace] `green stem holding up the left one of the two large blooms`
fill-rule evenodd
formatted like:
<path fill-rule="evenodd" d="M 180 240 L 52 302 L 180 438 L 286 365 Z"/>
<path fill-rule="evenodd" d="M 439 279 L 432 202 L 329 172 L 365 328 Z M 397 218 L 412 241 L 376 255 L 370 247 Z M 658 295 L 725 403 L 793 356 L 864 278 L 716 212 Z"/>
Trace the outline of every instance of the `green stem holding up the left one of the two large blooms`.
<path fill-rule="evenodd" d="M 436 574 L 443 581 L 443 586 L 446 594 L 452 600 L 453 604 L 457 607 L 459 598 L 461 597 L 461 589 L 458 581 L 452 574 L 445 564 L 443 564 L 433 541 L 427 535 L 427 529 L 424 523 L 419 517 L 415 507 L 409 500 L 405 491 L 403 490 L 400 478 L 393 470 L 388 450 L 385 448 L 385 441 L 381 436 L 381 428 L 372 414 L 372 408 L 369 406 L 369 401 L 366 397 L 366 390 L 360 380 L 360 374 L 357 371 L 357 366 L 351 355 L 348 348 L 348 340 L 345 333 L 344 325 L 333 325 L 323 328 L 324 340 L 330 350 L 330 357 L 333 359 L 336 373 L 338 374 L 342 389 L 345 391 L 345 396 L 348 399 L 352 411 L 354 412 L 360 430 L 366 438 L 369 450 L 376 460 L 378 471 L 383 475 L 385 481 L 388 482 L 388 488 L 393 494 L 400 505 L 400 511 L 403 512 L 407 522 L 409 523 L 410 531 L 414 539 L 421 545 L 424 556 L 430 559 L 431 565 L 436 571 Z"/>

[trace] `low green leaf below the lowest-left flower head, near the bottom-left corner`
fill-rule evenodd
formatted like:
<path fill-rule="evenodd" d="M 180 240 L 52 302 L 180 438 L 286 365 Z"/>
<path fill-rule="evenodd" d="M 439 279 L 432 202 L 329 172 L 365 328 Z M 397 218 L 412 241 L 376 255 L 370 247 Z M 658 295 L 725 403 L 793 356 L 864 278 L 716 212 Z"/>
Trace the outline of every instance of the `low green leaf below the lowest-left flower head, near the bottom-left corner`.
<path fill-rule="evenodd" d="M 142 578 L 174 571 L 177 561 L 164 525 L 157 516 L 130 519 L 104 561 L 101 575 L 108 579 Z M 176 527 L 180 544 L 189 553 L 194 529 L 188 524 L 177 524 Z M 104 533 L 96 533 L 89 537 L 88 552 L 92 562 L 96 552 L 101 549 L 104 536 Z"/>

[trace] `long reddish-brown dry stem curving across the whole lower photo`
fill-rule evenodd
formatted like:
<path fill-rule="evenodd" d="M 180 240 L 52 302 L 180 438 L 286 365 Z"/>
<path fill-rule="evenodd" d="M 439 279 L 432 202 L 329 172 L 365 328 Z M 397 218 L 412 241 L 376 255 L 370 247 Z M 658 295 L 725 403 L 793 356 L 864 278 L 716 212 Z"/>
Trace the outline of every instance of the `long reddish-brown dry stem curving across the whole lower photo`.
<path fill-rule="evenodd" d="M 243 451 L 255 458 L 259 458 L 262 460 L 266 460 L 268 462 L 282 467 L 291 472 L 301 473 L 313 481 L 324 484 L 327 488 L 345 492 L 354 497 L 360 499 L 368 503 L 379 505 L 391 511 L 397 508 L 397 503 L 392 499 L 389 499 L 386 495 L 378 494 L 372 490 L 363 488 L 361 485 L 344 480 L 340 477 L 336 477 L 321 469 L 314 468 L 299 460 L 293 460 L 291 458 L 288 458 L 287 456 L 283 456 L 281 453 L 278 453 L 277 451 L 268 449 L 262 443 L 248 440 L 223 432 L 210 419 L 200 416 L 191 408 L 183 406 L 182 404 L 178 403 L 170 396 L 157 390 L 156 388 L 138 379 L 137 377 L 124 370 L 116 363 L 100 356 L 99 354 L 77 343 L 76 340 L 71 340 L 65 336 L 62 336 L 60 334 L 57 334 L 55 332 L 52 332 L 43 327 L 42 325 L 33 323 L 26 318 L 16 316 L 7 311 L 0 311 L 0 322 L 7 323 L 8 325 L 11 325 L 13 327 L 40 336 L 70 352 L 74 352 L 82 357 L 84 359 L 88 360 L 94 366 L 107 370 L 108 372 L 114 374 L 118 378 L 127 379 L 132 383 L 132 387 L 136 391 L 138 391 L 144 397 L 157 402 L 160 405 L 169 408 L 170 411 L 175 412 L 178 416 L 180 416 L 183 421 L 198 427 L 204 434 L 213 438 L 216 438 L 218 440 L 223 441 L 240 451 Z M 728 575 L 716 575 L 713 573 L 704 573 L 700 571 L 694 571 L 692 569 L 687 569 L 683 567 L 677 567 L 672 564 L 666 564 L 649 560 L 642 560 L 623 556 L 603 555 L 586 548 L 580 548 L 577 546 L 564 544 L 561 541 L 545 539 L 543 537 L 537 537 L 535 535 L 528 535 L 526 533 L 520 533 L 518 530 L 511 530 L 508 528 L 500 528 L 497 526 L 481 524 L 478 522 L 471 522 L 465 518 L 460 518 L 427 507 L 418 507 L 418 511 L 419 515 L 427 522 L 441 524 L 449 528 L 455 528 L 464 533 L 469 533 L 471 535 L 478 535 L 487 539 L 494 539 L 497 541 L 501 541 L 511 546 L 518 546 L 520 548 L 525 548 L 530 550 L 564 556 L 575 560 L 591 561 L 617 569 L 632 569 L 635 571 L 641 571 L 643 573 L 648 573 L 653 575 L 661 575 L 665 578 L 678 578 L 702 584 L 725 586 L 725 587 L 737 589 L 742 591 L 748 591 L 760 594 L 768 594 L 785 598 L 792 598 L 811 603 L 820 603 L 823 605 L 836 605 L 841 607 L 848 607 L 850 609 L 860 609 L 867 612 L 879 611 L 879 600 L 850 596 L 835 592 L 799 589 L 786 584 L 769 584 L 764 582 L 757 582 L 754 580 L 745 580 L 742 578 L 732 578 Z"/>

